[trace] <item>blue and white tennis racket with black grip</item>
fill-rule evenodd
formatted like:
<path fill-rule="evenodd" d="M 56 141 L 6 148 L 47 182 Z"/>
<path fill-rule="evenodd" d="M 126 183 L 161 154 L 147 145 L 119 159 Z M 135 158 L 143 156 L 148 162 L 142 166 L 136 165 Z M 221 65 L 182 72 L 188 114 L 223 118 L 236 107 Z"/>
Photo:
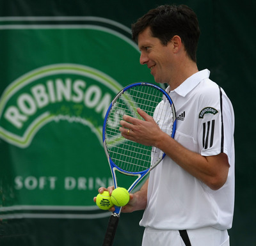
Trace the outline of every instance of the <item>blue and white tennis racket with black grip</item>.
<path fill-rule="evenodd" d="M 165 156 L 163 151 L 155 147 L 138 144 L 122 137 L 119 127 L 124 114 L 143 119 L 137 112 L 138 107 L 152 116 L 161 130 L 168 135 L 174 137 L 176 129 L 176 114 L 172 99 L 159 86 L 138 82 L 126 86 L 115 96 L 106 112 L 102 140 L 114 187 L 117 188 L 116 171 L 137 176 L 127 189 L 128 192 L 131 192 Z M 111 246 L 113 243 L 121 209 L 115 206 L 115 211 L 109 219 L 103 246 Z"/>

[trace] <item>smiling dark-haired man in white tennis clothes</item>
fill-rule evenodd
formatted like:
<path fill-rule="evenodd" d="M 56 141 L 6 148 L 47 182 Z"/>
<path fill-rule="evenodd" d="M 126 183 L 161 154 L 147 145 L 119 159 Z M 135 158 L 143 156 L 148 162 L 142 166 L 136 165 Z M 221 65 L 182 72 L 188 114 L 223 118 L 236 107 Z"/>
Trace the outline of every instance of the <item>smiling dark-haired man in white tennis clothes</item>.
<path fill-rule="evenodd" d="M 234 211 L 234 112 L 227 95 L 198 72 L 198 20 L 188 6 L 159 6 L 132 25 L 132 38 L 175 105 L 175 139 L 153 118 L 124 116 L 122 136 L 166 153 L 123 212 L 145 210 L 143 246 L 227 246 Z M 129 132 L 128 130 L 129 129 Z M 106 188 L 99 188 L 102 193 Z M 108 187 L 109 192 L 113 187 Z"/>

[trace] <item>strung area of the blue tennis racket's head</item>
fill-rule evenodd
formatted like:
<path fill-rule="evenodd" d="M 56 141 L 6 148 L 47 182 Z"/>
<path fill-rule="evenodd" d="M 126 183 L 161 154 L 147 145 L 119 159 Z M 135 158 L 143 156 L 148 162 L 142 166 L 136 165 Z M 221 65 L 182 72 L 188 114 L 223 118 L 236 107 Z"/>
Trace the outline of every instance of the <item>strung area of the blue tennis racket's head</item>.
<path fill-rule="evenodd" d="M 142 119 L 137 108 L 154 117 L 166 133 L 172 132 L 173 114 L 170 103 L 164 103 L 163 93 L 152 86 L 134 86 L 124 91 L 115 102 L 106 123 L 106 146 L 113 162 L 127 172 L 139 173 L 163 157 L 163 152 L 122 137 L 119 131 L 124 114 Z M 127 129 L 128 130 L 128 129 Z"/>

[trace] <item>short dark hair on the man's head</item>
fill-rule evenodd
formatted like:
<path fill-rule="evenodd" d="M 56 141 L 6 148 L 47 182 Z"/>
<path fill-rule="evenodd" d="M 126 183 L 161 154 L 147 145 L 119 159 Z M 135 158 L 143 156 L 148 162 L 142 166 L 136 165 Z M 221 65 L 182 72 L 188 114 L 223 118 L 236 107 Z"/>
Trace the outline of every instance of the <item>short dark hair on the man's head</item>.
<path fill-rule="evenodd" d="M 200 36 L 195 12 L 186 5 L 161 5 L 149 10 L 136 23 L 132 24 L 132 40 L 138 43 L 138 35 L 150 27 L 152 36 L 167 45 L 173 36 L 178 35 L 188 53 L 196 62 L 196 49 Z"/>

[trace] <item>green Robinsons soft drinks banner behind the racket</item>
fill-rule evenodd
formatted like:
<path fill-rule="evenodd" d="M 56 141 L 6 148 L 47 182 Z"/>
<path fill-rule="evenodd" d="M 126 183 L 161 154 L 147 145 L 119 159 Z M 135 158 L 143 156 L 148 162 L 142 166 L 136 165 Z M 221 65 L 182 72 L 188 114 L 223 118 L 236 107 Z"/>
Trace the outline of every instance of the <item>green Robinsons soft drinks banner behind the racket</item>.
<path fill-rule="evenodd" d="M 130 30 L 99 17 L 20 17 L 0 24 L 8 67 L 0 137 L 11 153 L 1 164 L 8 176 L 3 218 L 65 218 L 65 210 L 70 218 L 108 216 L 92 200 L 99 187 L 112 185 L 104 116 L 124 86 L 153 82 Z"/>

